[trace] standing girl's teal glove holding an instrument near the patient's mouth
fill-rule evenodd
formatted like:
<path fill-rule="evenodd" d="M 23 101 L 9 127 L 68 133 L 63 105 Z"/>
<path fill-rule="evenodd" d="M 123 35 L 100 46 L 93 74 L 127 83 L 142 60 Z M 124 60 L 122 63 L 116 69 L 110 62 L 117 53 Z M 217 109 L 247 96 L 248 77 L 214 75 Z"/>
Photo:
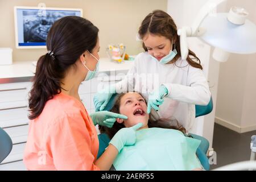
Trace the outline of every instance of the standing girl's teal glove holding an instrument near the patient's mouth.
<path fill-rule="evenodd" d="M 168 94 L 168 89 L 166 86 L 161 85 L 158 90 L 152 92 L 148 96 L 147 102 L 147 113 L 149 114 L 151 111 L 151 107 L 156 111 L 159 110 L 159 105 L 163 104 L 163 97 Z"/>

